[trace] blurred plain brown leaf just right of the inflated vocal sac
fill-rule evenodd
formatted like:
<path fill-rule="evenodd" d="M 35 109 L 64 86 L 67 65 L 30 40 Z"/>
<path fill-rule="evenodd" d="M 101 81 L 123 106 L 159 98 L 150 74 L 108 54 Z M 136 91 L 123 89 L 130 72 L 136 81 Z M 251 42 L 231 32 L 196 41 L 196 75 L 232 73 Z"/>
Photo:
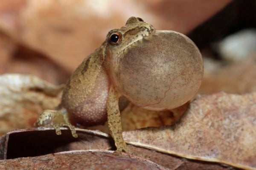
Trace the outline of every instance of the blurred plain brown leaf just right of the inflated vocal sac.
<path fill-rule="evenodd" d="M 241 62 L 205 71 L 199 94 L 219 91 L 244 94 L 256 91 L 256 55 Z"/>

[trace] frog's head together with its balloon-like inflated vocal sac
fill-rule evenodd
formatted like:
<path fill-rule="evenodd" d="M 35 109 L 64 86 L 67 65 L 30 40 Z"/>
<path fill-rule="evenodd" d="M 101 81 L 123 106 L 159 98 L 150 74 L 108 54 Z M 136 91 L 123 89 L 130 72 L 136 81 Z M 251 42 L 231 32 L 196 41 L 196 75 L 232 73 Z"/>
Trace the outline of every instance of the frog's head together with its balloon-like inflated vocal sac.
<path fill-rule="evenodd" d="M 125 26 L 108 33 L 104 49 L 111 84 L 145 109 L 177 108 L 200 87 L 204 72 L 200 51 L 178 32 L 155 30 L 131 17 Z"/>

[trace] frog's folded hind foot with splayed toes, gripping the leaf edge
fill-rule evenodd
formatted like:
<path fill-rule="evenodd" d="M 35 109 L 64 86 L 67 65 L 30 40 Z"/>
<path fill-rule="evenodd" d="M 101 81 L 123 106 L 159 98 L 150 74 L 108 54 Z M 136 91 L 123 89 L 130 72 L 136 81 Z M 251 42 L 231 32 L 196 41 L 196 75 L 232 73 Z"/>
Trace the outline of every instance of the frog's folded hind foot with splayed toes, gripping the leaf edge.
<path fill-rule="evenodd" d="M 53 127 L 57 135 L 61 135 L 61 127 L 68 127 L 72 136 L 78 137 L 75 127 L 69 122 L 66 109 L 42 111 L 34 126 Z"/>

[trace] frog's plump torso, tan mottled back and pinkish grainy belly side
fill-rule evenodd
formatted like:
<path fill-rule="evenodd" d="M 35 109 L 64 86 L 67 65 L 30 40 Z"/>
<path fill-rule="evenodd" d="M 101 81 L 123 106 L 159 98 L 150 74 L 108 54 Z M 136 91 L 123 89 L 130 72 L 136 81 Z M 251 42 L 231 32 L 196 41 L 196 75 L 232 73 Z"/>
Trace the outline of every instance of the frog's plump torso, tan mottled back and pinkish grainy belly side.
<path fill-rule="evenodd" d="M 103 53 L 99 48 L 84 59 L 63 91 L 61 105 L 67 109 L 73 123 L 90 126 L 107 120 L 109 81 L 102 68 Z"/>

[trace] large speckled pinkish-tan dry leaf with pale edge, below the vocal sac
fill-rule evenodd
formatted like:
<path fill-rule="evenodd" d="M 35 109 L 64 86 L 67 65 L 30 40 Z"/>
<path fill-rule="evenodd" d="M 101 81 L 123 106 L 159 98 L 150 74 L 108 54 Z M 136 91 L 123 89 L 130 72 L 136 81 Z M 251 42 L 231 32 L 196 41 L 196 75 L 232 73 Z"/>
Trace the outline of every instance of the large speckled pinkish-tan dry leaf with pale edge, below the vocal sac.
<path fill-rule="evenodd" d="M 149 127 L 123 133 L 133 145 L 188 159 L 256 168 L 256 93 L 218 93 L 191 103 L 173 127 Z"/>

